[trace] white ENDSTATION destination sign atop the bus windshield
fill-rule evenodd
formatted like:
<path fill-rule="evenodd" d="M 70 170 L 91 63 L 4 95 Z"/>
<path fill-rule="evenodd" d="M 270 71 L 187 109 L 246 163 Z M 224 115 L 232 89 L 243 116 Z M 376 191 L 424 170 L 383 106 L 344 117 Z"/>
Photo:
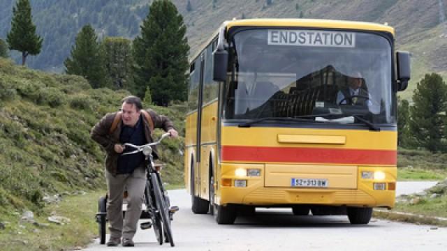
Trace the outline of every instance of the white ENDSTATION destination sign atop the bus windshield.
<path fill-rule="evenodd" d="M 269 29 L 268 44 L 319 47 L 356 47 L 356 33 L 342 31 Z"/>

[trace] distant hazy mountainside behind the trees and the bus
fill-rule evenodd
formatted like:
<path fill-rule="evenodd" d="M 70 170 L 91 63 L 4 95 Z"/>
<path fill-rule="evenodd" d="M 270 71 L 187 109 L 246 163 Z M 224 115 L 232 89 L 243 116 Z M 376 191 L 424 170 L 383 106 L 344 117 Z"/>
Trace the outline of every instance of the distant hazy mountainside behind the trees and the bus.
<path fill-rule="evenodd" d="M 224 20 L 252 17 L 302 17 L 387 22 L 396 28 L 397 49 L 413 54 L 410 91 L 425 73 L 447 77 L 447 0 L 172 0 L 184 15 L 191 54 Z M 10 29 L 15 0 L 1 0 L 0 38 Z M 91 23 L 101 36 L 135 37 L 152 0 L 31 0 L 43 52 L 31 56 L 32 68 L 60 71 L 75 34 Z M 188 3 L 189 8 L 188 8 Z M 4 7 L 4 8 L 3 8 Z"/>

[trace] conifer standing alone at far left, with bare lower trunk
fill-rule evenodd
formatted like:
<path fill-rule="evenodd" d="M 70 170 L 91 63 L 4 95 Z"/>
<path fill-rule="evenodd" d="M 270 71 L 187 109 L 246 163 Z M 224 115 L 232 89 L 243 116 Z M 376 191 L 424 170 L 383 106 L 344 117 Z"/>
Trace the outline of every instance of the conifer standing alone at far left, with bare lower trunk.
<path fill-rule="evenodd" d="M 31 20 L 29 0 L 18 0 L 13 7 L 11 30 L 6 41 L 9 50 L 22 52 L 22 66 L 26 63 L 28 55 L 41 53 L 43 39 L 36 34 L 36 25 Z"/>

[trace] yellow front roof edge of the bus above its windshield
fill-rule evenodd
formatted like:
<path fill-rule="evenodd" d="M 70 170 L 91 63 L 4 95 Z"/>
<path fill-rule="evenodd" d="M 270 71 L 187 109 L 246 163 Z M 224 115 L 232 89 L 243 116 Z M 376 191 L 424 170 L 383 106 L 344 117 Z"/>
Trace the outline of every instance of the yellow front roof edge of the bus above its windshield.
<path fill-rule="evenodd" d="M 192 57 L 190 57 L 190 61 L 192 63 L 193 60 L 202 52 L 205 47 L 214 39 L 214 36 L 217 36 L 219 30 L 222 27 L 226 27 L 226 30 L 237 27 L 237 26 L 288 26 L 288 27 L 309 27 L 309 28 L 328 28 L 328 29 L 353 29 L 353 30 L 362 30 L 362 31 L 386 31 L 393 36 L 394 28 L 388 26 L 386 24 L 376 24 L 370 22 L 353 22 L 353 21 L 341 21 L 341 20 L 317 20 L 317 19 L 302 19 L 302 18 L 256 18 L 256 19 L 247 19 L 247 20 L 230 20 L 223 22 L 219 29 L 212 33 L 211 38 L 206 40 L 204 44 L 199 47 Z"/>

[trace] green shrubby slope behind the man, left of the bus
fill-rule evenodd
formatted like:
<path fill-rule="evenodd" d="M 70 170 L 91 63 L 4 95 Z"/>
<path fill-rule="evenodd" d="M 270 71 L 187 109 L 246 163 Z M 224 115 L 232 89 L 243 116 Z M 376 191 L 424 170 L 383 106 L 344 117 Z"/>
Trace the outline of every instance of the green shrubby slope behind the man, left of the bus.
<path fill-rule="evenodd" d="M 42 73 L 0 59 L 0 211 L 41 208 L 49 195 L 105 188 L 105 155 L 89 132 L 128 95 L 91 89 L 82 77 Z M 153 108 L 173 118 L 184 135 L 183 107 Z M 182 137 L 168 139 L 161 147 L 168 183 L 183 182 L 182 142 Z"/>

